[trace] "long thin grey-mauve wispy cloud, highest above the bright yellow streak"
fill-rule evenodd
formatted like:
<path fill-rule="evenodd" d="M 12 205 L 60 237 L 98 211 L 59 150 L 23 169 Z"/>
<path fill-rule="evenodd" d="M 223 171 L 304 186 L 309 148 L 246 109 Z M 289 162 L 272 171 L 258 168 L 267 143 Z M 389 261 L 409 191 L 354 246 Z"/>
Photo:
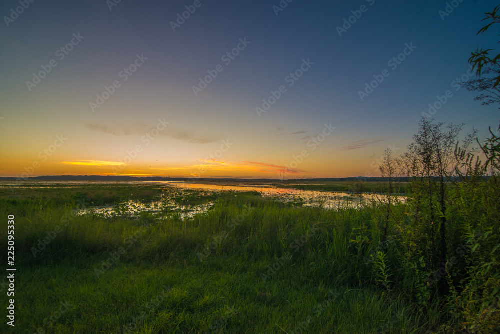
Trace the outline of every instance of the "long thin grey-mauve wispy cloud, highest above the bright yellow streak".
<path fill-rule="evenodd" d="M 129 135 L 145 135 L 152 130 L 156 130 L 155 126 L 148 124 L 133 124 L 133 125 L 104 125 L 104 124 L 86 124 L 85 127 L 92 131 L 107 133 L 114 136 L 129 136 Z M 159 131 L 158 137 L 168 137 L 181 140 L 191 144 L 208 144 L 220 140 L 220 137 L 207 134 L 197 134 L 192 130 L 180 129 L 167 126 L 164 130 Z"/>

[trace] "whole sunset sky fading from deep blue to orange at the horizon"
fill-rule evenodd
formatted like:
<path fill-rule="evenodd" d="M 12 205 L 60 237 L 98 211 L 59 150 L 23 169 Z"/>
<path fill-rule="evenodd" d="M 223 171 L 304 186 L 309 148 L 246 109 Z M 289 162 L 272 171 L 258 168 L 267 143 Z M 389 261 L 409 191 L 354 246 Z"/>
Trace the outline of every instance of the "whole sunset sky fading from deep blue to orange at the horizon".
<path fill-rule="evenodd" d="M 0 176 L 379 176 L 429 104 L 498 125 L 457 84 L 496 2 L 288 1 L 3 0 Z"/>

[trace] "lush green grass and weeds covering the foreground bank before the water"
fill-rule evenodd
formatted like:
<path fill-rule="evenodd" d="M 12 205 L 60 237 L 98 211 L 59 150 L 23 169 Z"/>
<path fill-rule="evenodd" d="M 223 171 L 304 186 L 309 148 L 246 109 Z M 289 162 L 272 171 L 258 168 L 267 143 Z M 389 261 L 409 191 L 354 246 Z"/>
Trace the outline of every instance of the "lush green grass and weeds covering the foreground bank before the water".
<path fill-rule="evenodd" d="M 115 187 L 113 193 L 130 191 Z M 419 333 L 465 321 L 495 329 L 498 311 L 488 295 L 498 292 L 497 262 L 488 254 L 497 234 L 492 229 L 479 240 L 477 227 L 486 230 L 497 216 L 492 206 L 476 217 L 480 192 L 464 204 L 465 185 L 454 188 L 456 204 L 448 207 L 456 222 L 450 249 L 463 244 L 449 277 L 429 268 L 428 227 L 418 223 L 411 201 L 324 210 L 254 192 L 180 196 L 137 186 L 131 194 L 139 199 L 148 192 L 156 196 L 151 201 L 214 204 L 185 218 L 165 211 L 131 218 L 76 215 L 82 202 L 62 201 L 58 192 L 66 189 L 51 189 L 54 200 L 38 190 L 30 190 L 33 198 L 0 199 L 1 215 L 16 221 L 20 332 Z M 109 191 L 71 193 L 83 190 L 94 198 Z M 5 229 L 0 237 L 6 239 Z M 448 282 L 447 295 L 438 294 L 438 281 Z M 479 298 L 481 304 L 470 302 Z"/>

